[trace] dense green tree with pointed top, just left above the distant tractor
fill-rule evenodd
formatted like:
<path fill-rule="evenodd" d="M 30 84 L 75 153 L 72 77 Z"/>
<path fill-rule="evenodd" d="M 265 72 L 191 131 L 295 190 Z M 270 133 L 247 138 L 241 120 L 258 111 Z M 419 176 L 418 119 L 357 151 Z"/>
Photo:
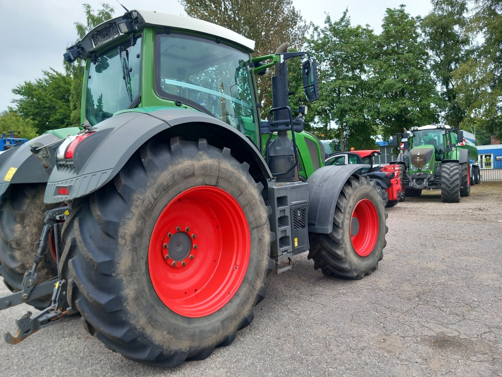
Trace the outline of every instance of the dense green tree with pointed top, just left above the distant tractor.
<path fill-rule="evenodd" d="M 373 86 L 378 88 L 379 118 L 385 139 L 402 128 L 438 120 L 437 91 L 428 67 L 429 55 L 420 40 L 419 19 L 405 6 L 386 11 L 376 40 Z"/>

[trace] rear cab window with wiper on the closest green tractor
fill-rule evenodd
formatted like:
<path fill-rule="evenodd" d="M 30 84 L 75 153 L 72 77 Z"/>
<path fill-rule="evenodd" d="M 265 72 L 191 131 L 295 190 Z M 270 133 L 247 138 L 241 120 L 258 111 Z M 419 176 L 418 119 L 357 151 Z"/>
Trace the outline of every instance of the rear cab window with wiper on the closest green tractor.
<path fill-rule="evenodd" d="M 137 105 L 140 96 L 141 36 L 91 59 L 85 117 L 95 125 L 120 110 Z"/>

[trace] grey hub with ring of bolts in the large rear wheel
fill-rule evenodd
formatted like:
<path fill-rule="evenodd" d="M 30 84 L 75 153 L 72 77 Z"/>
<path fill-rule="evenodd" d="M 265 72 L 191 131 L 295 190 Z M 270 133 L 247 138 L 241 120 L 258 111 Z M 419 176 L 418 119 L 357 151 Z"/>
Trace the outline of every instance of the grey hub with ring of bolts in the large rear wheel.
<path fill-rule="evenodd" d="M 169 230 L 161 247 L 165 262 L 174 268 L 183 268 L 195 259 L 198 248 L 193 241 L 197 235 L 187 226 L 177 226 Z"/>

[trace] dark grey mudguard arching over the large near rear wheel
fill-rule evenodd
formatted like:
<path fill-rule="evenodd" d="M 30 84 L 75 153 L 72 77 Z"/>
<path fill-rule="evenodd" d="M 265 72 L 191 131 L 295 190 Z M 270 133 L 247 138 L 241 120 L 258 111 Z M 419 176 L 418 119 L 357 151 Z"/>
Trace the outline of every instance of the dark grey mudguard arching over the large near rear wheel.
<path fill-rule="evenodd" d="M 126 112 L 99 123 L 95 135 L 78 145 L 73 157 L 74 168 L 58 165 L 53 169 L 44 202 L 71 201 L 98 190 L 144 143 L 170 128 L 173 128 L 172 135 L 206 138 L 217 147 L 231 147 L 249 163 L 250 170 L 259 171 L 259 174 L 253 174 L 255 179 L 272 178 L 269 167 L 253 142 L 219 119 L 186 109 Z M 58 195 L 58 186 L 68 187 L 68 195 Z"/>

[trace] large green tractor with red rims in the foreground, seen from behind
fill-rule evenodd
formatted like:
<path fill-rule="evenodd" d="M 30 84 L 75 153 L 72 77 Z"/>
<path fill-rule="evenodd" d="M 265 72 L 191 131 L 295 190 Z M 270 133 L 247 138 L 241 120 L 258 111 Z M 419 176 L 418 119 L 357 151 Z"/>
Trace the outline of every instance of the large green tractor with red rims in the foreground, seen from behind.
<path fill-rule="evenodd" d="M 360 165 L 322 166 L 317 139 L 296 137 L 306 108 L 289 106 L 287 66 L 303 59 L 315 101 L 315 59 L 285 45 L 252 58 L 254 46 L 134 10 L 67 50 L 86 62 L 82 131 L 0 155 L 0 272 L 13 292 L 0 310 L 42 310 L 7 342 L 79 312 L 108 348 L 174 366 L 229 345 L 267 273 L 294 255 L 342 278 L 378 267 L 387 227 L 374 184 Z M 261 121 L 255 74 L 267 68 L 273 108 Z"/>

